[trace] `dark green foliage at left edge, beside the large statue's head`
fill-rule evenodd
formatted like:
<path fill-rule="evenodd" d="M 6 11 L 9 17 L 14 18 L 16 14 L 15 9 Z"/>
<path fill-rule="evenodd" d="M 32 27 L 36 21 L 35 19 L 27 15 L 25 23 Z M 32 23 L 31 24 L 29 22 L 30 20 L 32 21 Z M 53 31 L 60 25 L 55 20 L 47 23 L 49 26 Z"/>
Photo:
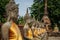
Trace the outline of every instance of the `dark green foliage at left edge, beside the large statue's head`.
<path fill-rule="evenodd" d="M 0 23 L 4 23 L 6 21 L 5 15 L 5 6 L 9 2 L 9 0 L 0 0 Z"/>

